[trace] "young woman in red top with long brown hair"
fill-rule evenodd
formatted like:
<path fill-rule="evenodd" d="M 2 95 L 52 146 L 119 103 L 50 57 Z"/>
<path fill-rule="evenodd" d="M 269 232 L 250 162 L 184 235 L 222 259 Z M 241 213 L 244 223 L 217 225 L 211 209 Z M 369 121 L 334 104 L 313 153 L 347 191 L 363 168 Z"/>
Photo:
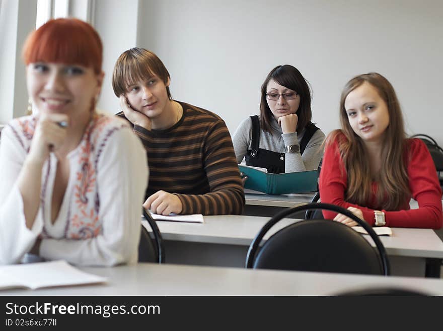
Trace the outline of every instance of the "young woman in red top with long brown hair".
<path fill-rule="evenodd" d="M 321 201 L 347 208 L 371 225 L 438 229 L 441 188 L 426 145 L 407 139 L 394 88 L 377 73 L 359 75 L 344 87 L 342 129 L 326 140 L 320 174 Z M 414 198 L 418 209 L 410 210 Z M 323 212 L 348 226 L 342 214 Z"/>

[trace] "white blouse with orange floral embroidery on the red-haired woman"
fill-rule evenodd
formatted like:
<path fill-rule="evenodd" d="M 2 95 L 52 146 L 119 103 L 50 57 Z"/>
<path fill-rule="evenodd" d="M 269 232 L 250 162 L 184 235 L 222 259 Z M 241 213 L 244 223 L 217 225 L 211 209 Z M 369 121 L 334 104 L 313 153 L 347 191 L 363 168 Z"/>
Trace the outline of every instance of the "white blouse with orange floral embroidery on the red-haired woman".
<path fill-rule="evenodd" d="M 52 189 L 57 159 L 50 153 L 42 170 L 40 208 L 29 230 L 17 186 L 29 152 L 36 118 L 14 119 L 0 142 L 0 264 L 21 260 L 42 238 L 40 256 L 83 266 L 135 263 L 140 215 L 147 184 L 146 153 L 129 125 L 96 113 L 79 146 L 71 151 L 69 179 L 55 222 Z"/>

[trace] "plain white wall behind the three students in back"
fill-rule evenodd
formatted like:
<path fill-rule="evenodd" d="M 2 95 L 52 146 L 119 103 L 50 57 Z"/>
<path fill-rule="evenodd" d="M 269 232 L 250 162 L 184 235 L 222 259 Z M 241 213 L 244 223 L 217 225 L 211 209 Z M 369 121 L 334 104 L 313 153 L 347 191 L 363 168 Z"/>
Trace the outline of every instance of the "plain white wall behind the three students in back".
<path fill-rule="evenodd" d="M 443 145 L 441 0 L 146 0 L 138 17 L 137 45 L 164 61 L 173 97 L 219 114 L 231 133 L 258 113 L 267 73 L 289 63 L 310 81 L 313 120 L 326 133 L 339 126 L 344 84 L 376 71 L 394 85 L 408 132 L 427 133 Z M 117 25 L 133 27 L 126 18 Z M 120 33 L 114 40 L 123 36 L 130 37 Z M 131 42 L 125 40 L 126 48 Z M 112 57 L 109 77 L 118 54 L 105 56 Z M 114 99 L 106 104 L 112 110 Z"/>

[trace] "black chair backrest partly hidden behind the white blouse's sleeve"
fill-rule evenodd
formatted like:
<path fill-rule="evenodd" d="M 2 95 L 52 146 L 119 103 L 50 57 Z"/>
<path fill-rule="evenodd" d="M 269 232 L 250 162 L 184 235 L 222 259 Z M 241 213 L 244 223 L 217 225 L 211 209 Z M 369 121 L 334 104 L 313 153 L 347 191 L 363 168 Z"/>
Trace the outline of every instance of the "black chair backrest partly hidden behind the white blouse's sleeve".
<path fill-rule="evenodd" d="M 163 237 L 160 229 L 156 221 L 144 208 L 142 208 L 142 213 L 152 229 L 154 241 L 147 229 L 142 225 L 140 243 L 138 245 L 138 261 L 165 263 L 165 248 L 163 247 Z"/>

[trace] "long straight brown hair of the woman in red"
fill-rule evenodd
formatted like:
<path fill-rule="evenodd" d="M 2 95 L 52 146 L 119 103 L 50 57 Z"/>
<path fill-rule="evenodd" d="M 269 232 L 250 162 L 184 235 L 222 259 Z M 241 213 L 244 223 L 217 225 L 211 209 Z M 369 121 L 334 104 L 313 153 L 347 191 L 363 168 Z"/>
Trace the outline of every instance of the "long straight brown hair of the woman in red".
<path fill-rule="evenodd" d="M 404 131 L 400 104 L 391 83 L 378 73 L 358 75 L 343 88 L 340 98 L 341 130 L 334 130 L 326 144 L 339 139 L 341 159 L 347 172 L 345 200 L 359 206 L 367 206 L 372 194 L 372 174 L 363 141 L 352 130 L 344 106 L 348 94 L 364 82 L 375 87 L 385 101 L 389 113 L 389 125 L 381 150 L 382 167 L 378 178 L 374 209 L 398 210 L 410 196 L 407 174 L 407 139 Z M 344 134 L 344 137 L 342 136 Z M 341 137 L 341 139 L 340 139 Z"/>

